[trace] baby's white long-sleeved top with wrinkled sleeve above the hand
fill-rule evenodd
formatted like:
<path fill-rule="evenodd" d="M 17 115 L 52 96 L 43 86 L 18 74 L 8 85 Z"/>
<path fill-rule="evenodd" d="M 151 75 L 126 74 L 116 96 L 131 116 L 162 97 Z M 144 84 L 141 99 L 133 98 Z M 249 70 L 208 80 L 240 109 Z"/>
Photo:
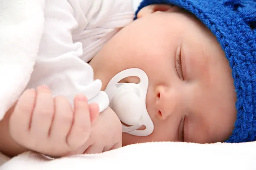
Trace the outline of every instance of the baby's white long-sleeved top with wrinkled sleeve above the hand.
<path fill-rule="evenodd" d="M 27 88 L 47 85 L 54 96 L 84 94 L 108 107 L 102 82 L 87 62 L 134 18 L 132 0 L 46 0 L 44 32 Z"/>

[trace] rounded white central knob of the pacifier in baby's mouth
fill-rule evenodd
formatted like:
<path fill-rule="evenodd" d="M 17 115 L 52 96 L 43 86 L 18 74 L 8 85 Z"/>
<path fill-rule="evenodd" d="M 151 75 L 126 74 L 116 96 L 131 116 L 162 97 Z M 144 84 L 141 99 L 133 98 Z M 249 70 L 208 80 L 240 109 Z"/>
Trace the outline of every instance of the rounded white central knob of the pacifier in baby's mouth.
<path fill-rule="evenodd" d="M 120 121 L 131 126 L 140 124 L 141 106 L 140 97 L 133 91 L 122 91 L 114 95 L 110 102 L 110 107 L 117 114 Z"/>

